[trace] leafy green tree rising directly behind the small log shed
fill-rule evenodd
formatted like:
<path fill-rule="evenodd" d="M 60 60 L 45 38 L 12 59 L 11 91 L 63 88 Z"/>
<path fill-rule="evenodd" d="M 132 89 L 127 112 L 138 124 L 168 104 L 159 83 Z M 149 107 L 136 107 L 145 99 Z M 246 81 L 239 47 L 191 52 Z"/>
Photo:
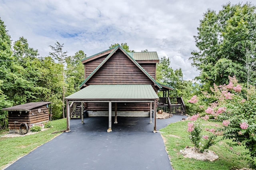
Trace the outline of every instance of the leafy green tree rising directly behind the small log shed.
<path fill-rule="evenodd" d="M 6 83 L 9 93 L 12 93 L 10 97 L 16 104 L 43 101 L 46 89 L 38 84 L 42 65 L 37 58 L 38 51 L 30 48 L 24 37 L 14 42 L 13 49 L 11 80 Z"/>

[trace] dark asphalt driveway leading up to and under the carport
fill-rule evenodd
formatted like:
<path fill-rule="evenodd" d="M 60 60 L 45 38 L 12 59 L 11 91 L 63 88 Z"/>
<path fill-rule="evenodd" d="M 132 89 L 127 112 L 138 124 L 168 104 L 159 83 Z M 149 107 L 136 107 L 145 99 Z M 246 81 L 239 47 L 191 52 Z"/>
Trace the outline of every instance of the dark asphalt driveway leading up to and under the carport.
<path fill-rule="evenodd" d="M 157 119 L 157 129 L 182 120 L 174 115 Z M 114 120 L 112 121 L 114 122 Z M 148 117 L 118 117 L 106 132 L 108 117 L 70 120 L 65 132 L 20 158 L 6 170 L 171 170 L 160 133 L 153 133 Z"/>

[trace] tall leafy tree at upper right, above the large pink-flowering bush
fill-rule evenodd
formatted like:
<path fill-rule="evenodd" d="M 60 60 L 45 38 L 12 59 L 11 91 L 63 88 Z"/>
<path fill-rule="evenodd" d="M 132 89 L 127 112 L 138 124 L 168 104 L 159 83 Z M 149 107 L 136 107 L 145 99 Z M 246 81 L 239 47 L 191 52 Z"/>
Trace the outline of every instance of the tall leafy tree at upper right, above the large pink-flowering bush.
<path fill-rule="evenodd" d="M 245 83 L 245 43 L 256 44 L 256 6 L 246 3 L 223 5 L 216 13 L 208 10 L 194 36 L 198 50 L 192 51 L 192 65 L 200 71 L 196 80 L 207 84 L 228 84 L 228 75 Z"/>

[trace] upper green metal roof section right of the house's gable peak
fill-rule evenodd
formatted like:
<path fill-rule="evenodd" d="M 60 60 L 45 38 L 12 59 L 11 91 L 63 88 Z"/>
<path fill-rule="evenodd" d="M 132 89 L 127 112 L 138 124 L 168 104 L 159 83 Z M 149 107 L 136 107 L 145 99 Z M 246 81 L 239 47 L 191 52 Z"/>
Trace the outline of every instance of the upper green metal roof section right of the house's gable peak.
<path fill-rule="evenodd" d="M 156 52 L 128 52 L 135 60 L 159 60 Z"/>

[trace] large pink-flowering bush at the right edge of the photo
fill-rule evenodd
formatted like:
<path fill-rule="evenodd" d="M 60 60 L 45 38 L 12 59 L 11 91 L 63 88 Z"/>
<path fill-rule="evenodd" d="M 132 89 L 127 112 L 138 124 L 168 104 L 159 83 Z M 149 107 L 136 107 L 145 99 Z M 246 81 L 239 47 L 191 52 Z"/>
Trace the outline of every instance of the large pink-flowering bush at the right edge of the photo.
<path fill-rule="evenodd" d="M 221 121 L 221 129 L 206 130 L 214 135 L 222 135 L 223 139 L 231 139 L 237 145 L 243 145 L 250 155 L 252 168 L 256 168 L 256 87 L 244 88 L 238 84 L 236 77 L 229 79 L 228 85 L 214 84 L 210 88 L 211 93 L 202 91 L 204 100 L 212 103 L 201 114 L 201 118 Z"/>

